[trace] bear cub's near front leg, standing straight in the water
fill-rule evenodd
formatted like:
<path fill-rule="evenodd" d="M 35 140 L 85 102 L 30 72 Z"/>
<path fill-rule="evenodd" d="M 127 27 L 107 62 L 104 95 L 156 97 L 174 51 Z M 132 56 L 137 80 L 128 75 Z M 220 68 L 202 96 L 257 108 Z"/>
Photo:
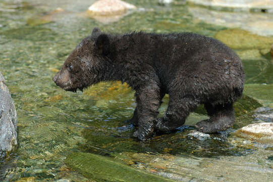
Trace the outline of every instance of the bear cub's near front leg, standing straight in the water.
<path fill-rule="evenodd" d="M 138 129 L 134 137 L 143 141 L 149 138 L 154 130 L 158 108 L 161 102 L 160 87 L 156 83 L 141 86 L 136 90 Z"/>

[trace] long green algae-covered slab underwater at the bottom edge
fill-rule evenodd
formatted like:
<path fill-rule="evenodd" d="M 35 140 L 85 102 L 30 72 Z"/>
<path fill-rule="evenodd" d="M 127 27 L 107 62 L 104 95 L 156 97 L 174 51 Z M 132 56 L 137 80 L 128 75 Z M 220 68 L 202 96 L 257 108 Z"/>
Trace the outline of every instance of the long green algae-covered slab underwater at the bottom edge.
<path fill-rule="evenodd" d="M 90 153 L 74 152 L 67 157 L 66 163 L 96 181 L 173 181 Z"/>

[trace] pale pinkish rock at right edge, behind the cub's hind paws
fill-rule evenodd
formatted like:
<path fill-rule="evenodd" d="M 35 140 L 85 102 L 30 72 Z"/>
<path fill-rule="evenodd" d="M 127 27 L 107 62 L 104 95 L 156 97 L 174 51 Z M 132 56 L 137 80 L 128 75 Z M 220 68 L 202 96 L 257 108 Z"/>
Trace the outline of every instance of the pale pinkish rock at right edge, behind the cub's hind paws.
<path fill-rule="evenodd" d="M 273 123 L 254 123 L 237 131 L 242 138 L 250 138 L 262 142 L 273 142 Z"/>

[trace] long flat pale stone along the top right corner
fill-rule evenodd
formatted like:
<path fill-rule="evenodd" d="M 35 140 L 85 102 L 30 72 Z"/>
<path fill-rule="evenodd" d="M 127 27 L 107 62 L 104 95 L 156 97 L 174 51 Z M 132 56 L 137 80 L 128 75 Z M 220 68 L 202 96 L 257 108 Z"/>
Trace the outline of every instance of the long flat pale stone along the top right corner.
<path fill-rule="evenodd" d="M 222 7 L 240 10 L 260 9 L 261 11 L 273 10 L 272 0 L 187 0 L 190 3 L 208 6 Z"/>

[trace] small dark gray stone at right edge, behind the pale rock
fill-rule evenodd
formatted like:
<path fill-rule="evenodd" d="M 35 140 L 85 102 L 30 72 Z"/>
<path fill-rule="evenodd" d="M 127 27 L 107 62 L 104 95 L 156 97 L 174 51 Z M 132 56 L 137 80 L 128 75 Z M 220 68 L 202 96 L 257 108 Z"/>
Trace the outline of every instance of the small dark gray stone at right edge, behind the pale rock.
<path fill-rule="evenodd" d="M 273 122 L 273 108 L 259 107 L 254 112 L 253 117 L 255 117 L 256 120 Z"/>

